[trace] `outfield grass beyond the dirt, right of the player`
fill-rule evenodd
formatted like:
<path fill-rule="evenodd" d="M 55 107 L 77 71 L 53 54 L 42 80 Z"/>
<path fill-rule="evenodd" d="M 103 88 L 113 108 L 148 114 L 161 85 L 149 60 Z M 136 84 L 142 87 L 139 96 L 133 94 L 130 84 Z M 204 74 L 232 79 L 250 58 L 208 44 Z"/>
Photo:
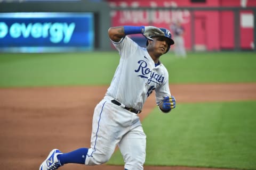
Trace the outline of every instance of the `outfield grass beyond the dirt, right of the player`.
<path fill-rule="evenodd" d="M 163 56 L 171 83 L 255 82 L 256 53 L 190 53 L 182 58 Z"/>

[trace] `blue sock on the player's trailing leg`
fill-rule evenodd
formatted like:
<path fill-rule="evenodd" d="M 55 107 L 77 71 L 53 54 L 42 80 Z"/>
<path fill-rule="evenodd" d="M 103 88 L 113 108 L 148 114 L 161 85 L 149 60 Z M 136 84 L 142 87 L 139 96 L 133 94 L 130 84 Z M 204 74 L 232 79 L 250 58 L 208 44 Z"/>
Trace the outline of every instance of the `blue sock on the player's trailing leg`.
<path fill-rule="evenodd" d="M 84 164 L 85 158 L 88 152 L 88 148 L 80 148 L 66 154 L 58 155 L 57 158 L 61 165 L 74 163 L 74 164 Z"/>

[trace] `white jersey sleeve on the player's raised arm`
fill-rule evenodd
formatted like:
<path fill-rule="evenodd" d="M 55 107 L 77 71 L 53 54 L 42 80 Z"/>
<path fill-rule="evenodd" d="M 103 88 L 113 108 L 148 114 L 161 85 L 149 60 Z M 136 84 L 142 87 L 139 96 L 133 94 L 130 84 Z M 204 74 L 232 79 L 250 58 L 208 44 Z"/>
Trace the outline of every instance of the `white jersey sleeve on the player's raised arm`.
<path fill-rule="evenodd" d="M 135 43 L 131 38 L 125 36 L 118 43 L 112 41 L 115 48 L 118 50 L 121 58 L 126 58 L 131 56 L 133 52 L 138 48 L 138 44 Z"/>

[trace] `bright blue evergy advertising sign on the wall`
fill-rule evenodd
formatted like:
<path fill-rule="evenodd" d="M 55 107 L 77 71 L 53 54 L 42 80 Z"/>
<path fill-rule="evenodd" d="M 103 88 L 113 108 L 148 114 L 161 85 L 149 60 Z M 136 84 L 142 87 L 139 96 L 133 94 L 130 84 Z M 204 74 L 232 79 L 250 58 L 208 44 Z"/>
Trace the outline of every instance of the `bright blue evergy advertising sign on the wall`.
<path fill-rule="evenodd" d="M 93 13 L 0 13 L 0 52 L 93 50 Z"/>

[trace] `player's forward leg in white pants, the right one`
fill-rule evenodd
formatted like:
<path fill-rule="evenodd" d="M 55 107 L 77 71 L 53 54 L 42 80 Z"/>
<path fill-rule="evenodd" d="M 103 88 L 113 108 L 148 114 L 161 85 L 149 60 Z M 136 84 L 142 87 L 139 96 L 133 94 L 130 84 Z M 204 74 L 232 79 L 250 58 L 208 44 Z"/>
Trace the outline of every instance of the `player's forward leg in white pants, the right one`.
<path fill-rule="evenodd" d="M 146 135 L 142 126 L 126 133 L 118 147 L 123 155 L 125 169 L 143 169 L 146 159 Z"/>

